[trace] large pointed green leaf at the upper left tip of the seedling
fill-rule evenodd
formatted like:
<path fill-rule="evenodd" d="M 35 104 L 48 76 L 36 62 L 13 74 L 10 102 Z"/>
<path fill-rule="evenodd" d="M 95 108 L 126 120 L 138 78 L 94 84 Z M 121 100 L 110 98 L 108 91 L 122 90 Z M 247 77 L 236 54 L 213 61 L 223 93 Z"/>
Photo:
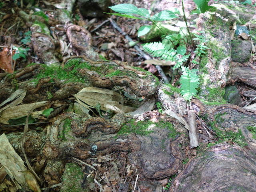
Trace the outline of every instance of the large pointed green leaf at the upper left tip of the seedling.
<path fill-rule="evenodd" d="M 133 4 L 119 4 L 119 5 L 115 5 L 115 6 L 111 6 L 108 7 L 110 9 L 112 9 L 115 12 L 118 13 L 125 13 L 125 14 L 138 14 L 141 16 L 144 16 L 144 13 L 139 10 L 135 5 Z"/>

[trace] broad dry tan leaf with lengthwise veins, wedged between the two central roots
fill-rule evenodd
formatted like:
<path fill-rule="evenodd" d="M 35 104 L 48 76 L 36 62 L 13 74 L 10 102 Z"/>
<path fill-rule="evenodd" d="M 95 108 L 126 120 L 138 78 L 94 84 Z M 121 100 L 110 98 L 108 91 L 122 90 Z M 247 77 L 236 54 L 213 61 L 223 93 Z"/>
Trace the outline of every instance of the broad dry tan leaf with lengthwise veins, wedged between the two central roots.
<path fill-rule="evenodd" d="M 99 102 L 100 109 L 104 111 L 107 111 L 109 108 L 115 109 L 116 113 L 127 113 L 136 110 L 136 108 L 124 106 L 122 95 L 108 89 L 86 87 L 73 96 L 76 97 L 79 104 L 88 109 L 94 108 Z"/>

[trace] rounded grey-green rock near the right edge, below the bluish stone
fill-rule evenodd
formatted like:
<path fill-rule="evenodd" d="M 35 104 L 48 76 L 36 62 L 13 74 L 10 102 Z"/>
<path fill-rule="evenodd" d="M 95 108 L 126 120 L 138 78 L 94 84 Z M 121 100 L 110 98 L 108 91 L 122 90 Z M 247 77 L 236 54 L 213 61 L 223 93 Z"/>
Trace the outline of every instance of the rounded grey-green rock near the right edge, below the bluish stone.
<path fill-rule="evenodd" d="M 231 41 L 231 58 L 233 62 L 247 62 L 251 55 L 252 44 L 250 41 L 233 40 Z"/>

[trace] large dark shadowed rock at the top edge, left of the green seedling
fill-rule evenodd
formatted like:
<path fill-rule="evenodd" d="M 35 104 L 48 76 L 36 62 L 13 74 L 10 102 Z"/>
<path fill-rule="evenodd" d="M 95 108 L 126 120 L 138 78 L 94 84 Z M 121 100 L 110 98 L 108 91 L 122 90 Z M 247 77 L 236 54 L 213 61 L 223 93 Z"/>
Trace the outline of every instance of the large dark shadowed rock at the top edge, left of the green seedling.
<path fill-rule="evenodd" d="M 78 7 L 82 16 L 85 17 L 102 17 L 110 12 L 111 0 L 79 0 Z"/>

